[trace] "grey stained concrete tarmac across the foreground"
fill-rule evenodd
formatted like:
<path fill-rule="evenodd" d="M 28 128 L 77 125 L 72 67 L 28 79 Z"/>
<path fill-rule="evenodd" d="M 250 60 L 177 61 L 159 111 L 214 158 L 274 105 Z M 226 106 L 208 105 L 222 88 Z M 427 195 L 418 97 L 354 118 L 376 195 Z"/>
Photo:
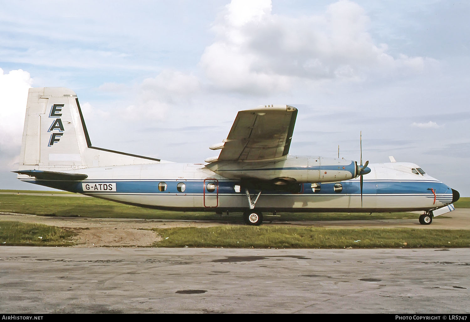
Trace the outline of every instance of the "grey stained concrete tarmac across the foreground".
<path fill-rule="evenodd" d="M 470 313 L 469 249 L 0 251 L 6 314 Z"/>

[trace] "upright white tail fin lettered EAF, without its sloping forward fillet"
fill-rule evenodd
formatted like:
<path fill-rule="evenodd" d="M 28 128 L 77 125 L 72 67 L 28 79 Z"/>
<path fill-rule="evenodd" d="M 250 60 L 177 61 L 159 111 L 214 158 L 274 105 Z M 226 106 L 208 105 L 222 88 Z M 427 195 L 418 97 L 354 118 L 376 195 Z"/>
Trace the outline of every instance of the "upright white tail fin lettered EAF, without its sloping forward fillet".
<path fill-rule="evenodd" d="M 77 95 L 65 88 L 32 88 L 28 93 L 21 166 L 31 169 L 86 168 L 86 137 Z"/>

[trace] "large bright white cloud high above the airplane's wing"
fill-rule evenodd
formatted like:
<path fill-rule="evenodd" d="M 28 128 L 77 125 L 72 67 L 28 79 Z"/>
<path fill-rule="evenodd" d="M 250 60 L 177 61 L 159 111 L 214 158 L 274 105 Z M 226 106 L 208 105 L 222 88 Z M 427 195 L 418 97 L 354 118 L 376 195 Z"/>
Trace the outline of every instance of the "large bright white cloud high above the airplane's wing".
<path fill-rule="evenodd" d="M 288 17 L 269 0 L 232 0 L 215 20 L 215 41 L 200 65 L 222 89 L 251 93 L 289 91 L 298 81 L 361 80 L 423 72 L 432 58 L 387 53 L 369 33 L 369 17 L 342 0 L 321 15 Z"/>

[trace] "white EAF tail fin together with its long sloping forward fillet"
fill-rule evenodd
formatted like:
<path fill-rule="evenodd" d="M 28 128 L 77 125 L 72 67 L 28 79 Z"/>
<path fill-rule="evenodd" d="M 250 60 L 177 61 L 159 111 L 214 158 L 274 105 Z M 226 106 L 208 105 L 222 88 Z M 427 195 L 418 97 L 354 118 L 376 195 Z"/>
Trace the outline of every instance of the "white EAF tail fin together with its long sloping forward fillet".
<path fill-rule="evenodd" d="M 93 147 L 77 95 L 71 89 L 29 90 L 19 170 L 60 172 L 159 162 L 155 158 Z"/>

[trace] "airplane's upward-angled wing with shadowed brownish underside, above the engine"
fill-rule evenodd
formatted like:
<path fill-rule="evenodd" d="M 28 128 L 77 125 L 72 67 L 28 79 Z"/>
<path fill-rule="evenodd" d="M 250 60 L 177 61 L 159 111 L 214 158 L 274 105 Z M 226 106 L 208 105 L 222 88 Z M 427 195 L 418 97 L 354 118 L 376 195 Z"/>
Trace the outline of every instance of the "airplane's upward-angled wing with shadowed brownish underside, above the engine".
<path fill-rule="evenodd" d="M 238 112 L 218 160 L 261 161 L 287 155 L 296 118 L 297 109 L 289 105 Z"/>

